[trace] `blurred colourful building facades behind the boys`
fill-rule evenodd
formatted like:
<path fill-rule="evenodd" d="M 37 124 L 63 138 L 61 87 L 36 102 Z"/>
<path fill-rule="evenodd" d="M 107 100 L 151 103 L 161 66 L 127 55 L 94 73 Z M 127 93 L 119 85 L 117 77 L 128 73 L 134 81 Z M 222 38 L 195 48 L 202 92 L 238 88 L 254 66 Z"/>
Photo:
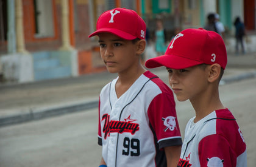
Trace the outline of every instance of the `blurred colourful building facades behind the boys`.
<path fill-rule="evenodd" d="M 176 29 L 204 27 L 207 14 L 215 12 L 232 36 L 236 16 L 254 34 L 255 1 L 0 0 L 0 78 L 22 83 L 104 71 L 97 37 L 87 36 L 105 10 L 137 11 L 151 35 L 161 18 L 169 39 Z"/>

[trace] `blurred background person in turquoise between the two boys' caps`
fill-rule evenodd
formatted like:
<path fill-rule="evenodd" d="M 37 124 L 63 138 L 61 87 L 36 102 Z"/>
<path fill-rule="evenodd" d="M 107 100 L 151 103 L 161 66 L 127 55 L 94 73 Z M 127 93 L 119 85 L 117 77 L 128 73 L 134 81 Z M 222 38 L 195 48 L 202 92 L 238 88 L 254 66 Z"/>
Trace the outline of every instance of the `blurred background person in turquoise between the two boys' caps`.
<path fill-rule="evenodd" d="M 163 28 L 163 21 L 161 19 L 157 19 L 157 29 L 155 30 L 155 51 L 157 52 L 157 56 L 165 53 L 167 49 L 166 45 L 166 33 Z"/>

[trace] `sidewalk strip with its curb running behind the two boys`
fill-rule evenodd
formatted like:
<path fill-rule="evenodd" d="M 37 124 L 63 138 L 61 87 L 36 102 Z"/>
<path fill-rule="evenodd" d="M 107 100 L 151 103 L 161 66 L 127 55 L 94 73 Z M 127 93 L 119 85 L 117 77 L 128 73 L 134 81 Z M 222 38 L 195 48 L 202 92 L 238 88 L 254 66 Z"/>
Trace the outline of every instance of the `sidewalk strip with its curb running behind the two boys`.
<path fill-rule="evenodd" d="M 168 84 L 164 67 L 151 69 Z M 102 72 L 24 84 L 0 84 L 0 127 L 98 107 L 102 87 L 117 75 Z M 256 53 L 228 55 L 221 84 L 256 77 Z"/>

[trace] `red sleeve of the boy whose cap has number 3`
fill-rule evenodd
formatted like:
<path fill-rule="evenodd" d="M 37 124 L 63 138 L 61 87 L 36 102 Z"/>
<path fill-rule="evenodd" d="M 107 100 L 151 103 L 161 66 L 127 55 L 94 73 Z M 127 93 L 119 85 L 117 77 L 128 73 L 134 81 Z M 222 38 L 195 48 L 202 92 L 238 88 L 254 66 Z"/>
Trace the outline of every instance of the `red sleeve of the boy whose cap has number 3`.
<path fill-rule="evenodd" d="M 208 135 L 198 145 L 201 166 L 215 164 L 216 166 L 236 166 L 236 154 L 229 141 L 222 135 Z"/>

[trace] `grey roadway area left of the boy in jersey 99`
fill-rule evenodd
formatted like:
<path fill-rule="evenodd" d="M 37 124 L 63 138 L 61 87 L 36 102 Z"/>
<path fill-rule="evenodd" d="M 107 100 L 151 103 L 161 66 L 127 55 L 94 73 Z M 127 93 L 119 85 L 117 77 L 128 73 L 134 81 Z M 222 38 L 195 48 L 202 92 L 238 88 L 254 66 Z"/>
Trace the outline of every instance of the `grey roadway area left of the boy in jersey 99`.
<path fill-rule="evenodd" d="M 0 166 L 97 166 L 97 120 L 91 109 L 0 128 Z"/>

